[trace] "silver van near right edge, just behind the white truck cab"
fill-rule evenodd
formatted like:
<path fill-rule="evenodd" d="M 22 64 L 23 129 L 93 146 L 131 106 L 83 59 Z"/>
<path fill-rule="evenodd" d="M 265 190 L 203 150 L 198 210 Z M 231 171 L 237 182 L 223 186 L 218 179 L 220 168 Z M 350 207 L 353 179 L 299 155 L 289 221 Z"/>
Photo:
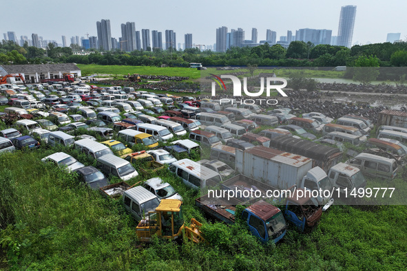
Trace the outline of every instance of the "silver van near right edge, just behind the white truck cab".
<path fill-rule="evenodd" d="M 398 169 L 396 160 L 371 153 L 359 153 L 355 158 L 346 161 L 346 164 L 356 166 L 364 175 L 389 179 L 396 177 Z"/>

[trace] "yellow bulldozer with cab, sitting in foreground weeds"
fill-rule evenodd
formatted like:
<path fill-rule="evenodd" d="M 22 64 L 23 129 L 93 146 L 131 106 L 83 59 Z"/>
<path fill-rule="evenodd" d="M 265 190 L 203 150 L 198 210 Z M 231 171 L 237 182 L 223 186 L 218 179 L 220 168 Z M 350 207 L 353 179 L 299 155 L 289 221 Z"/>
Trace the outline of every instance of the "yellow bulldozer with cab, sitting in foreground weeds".
<path fill-rule="evenodd" d="M 148 213 L 148 219 L 138 223 L 138 239 L 151 242 L 153 235 L 157 235 L 164 239 L 176 240 L 182 237 L 194 243 L 205 242 L 200 232 L 200 222 L 193 218 L 189 226 L 185 225 L 181 205 L 179 199 L 162 199 L 156 210 Z"/>

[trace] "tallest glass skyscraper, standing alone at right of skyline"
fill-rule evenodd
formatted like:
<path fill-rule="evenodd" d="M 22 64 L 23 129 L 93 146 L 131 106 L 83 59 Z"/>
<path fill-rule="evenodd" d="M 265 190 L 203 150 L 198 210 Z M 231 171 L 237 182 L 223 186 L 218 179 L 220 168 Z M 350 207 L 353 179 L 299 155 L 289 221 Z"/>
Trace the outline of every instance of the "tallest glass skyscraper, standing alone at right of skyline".
<path fill-rule="evenodd" d="M 340 25 L 337 30 L 337 45 L 351 47 L 355 17 L 356 6 L 343 6 L 341 8 Z"/>

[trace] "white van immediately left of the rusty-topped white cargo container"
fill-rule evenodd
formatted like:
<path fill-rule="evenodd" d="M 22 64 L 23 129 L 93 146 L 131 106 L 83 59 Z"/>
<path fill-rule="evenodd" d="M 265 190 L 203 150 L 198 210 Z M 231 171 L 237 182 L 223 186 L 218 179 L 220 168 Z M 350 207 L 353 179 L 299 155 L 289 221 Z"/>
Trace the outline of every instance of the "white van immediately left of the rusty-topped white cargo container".
<path fill-rule="evenodd" d="M 216 186 L 222 182 L 219 173 L 189 159 L 178 160 L 169 166 L 169 171 L 178 175 L 191 188 Z"/>

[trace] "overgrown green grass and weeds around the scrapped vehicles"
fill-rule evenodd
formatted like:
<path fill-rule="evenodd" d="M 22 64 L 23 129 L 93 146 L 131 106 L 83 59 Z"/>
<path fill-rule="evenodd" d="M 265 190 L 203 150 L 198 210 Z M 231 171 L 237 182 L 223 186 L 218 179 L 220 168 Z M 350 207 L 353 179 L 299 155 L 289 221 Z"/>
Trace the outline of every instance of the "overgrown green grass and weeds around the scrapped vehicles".
<path fill-rule="evenodd" d="M 154 91 L 153 91 L 154 92 Z M 180 96 L 180 94 L 174 94 Z M 311 95 L 311 94 L 307 94 Z M 325 96 L 322 96 L 325 98 Z M 300 100 L 299 97 L 298 100 Z M 369 113 L 375 123 L 377 113 L 363 105 L 337 104 L 318 97 L 308 97 L 307 104 L 286 100 L 282 107 L 299 108 L 295 116 L 319 111 L 340 118 L 347 113 Z M 319 102 L 328 100 L 328 102 Z M 312 102 L 311 102 L 312 101 Z M 10 106 L 8 106 L 10 107 Z M 362 107 L 359 108 L 359 107 Z M 320 110 L 317 110 L 317 109 Z M 322 111 L 327 108 L 328 111 Z M 329 114 L 332 113 L 332 114 Z M 9 128 L 1 122 L 1 130 Z M 112 127 L 112 126 L 111 126 Z M 261 127 L 253 130 L 259 133 Z M 376 137 L 377 125 L 370 132 Z M 21 131 L 24 133 L 24 131 Z M 75 134 L 86 133 L 83 130 Z M 98 142 L 105 141 L 96 133 Z M 318 138 L 322 135 L 315 133 Z M 181 137 L 188 138 L 188 135 Z M 174 137 L 173 140 L 181 139 Z M 159 142 L 159 147 L 171 145 Z M 364 146 L 353 149 L 357 153 Z M 135 144 L 132 151 L 141 151 Z M 136 241 L 136 222 L 125 212 L 121 201 L 102 197 L 81 184 L 75 173 L 65 173 L 41 159 L 56 152 L 65 152 L 86 166 L 96 165 L 85 153 L 56 145 L 34 150 L 14 151 L 0 155 L 1 203 L 1 267 L 9 268 L 72 268 L 72 269 L 387 269 L 407 265 L 407 210 L 405 206 L 331 206 L 322 213 L 317 226 L 308 232 L 289 224 L 285 237 L 277 244 L 262 244 L 242 224 L 227 226 L 213 223 L 195 206 L 199 191 L 185 186 L 167 170 L 141 173 L 127 182 L 130 185 L 152 177 L 169 182 L 184 199 L 185 221 L 192 217 L 204 222 L 202 233 L 208 244 L 181 243 L 156 239 L 149 246 Z M 203 155 L 209 155 L 204 148 Z M 178 159 L 187 158 L 186 153 Z M 200 160 L 200 155 L 193 155 Z M 346 161 L 346 158 L 342 162 Z M 404 167 L 405 166 L 400 166 Z M 112 184 L 120 182 L 110 176 Z M 399 171 L 393 180 L 366 176 L 368 187 L 382 182 L 403 189 L 406 177 Z M 284 206 L 278 206 L 284 209 Z"/>

